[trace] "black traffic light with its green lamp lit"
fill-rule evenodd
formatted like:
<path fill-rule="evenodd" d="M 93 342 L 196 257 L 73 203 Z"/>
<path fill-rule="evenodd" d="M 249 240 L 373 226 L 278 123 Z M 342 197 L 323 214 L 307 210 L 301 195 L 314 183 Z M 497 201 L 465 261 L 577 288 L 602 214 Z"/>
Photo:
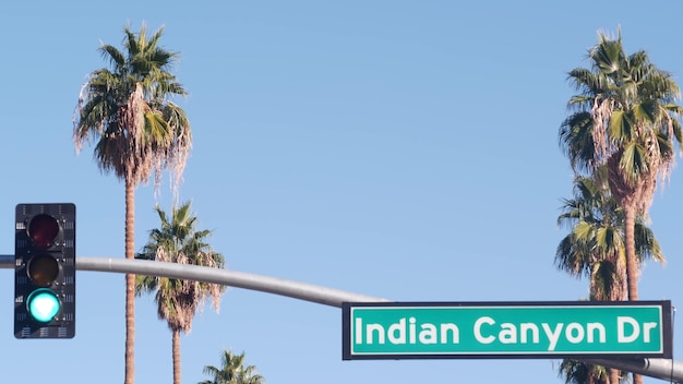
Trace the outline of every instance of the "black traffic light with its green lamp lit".
<path fill-rule="evenodd" d="M 14 337 L 75 334 L 76 207 L 19 204 L 14 232 Z"/>

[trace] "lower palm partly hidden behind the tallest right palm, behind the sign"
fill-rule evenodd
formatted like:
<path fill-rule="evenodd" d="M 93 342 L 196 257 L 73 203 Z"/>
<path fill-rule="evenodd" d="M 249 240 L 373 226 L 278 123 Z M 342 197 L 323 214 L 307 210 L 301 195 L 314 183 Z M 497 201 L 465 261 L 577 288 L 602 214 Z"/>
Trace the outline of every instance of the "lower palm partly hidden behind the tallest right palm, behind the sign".
<path fill-rule="evenodd" d="M 574 277 L 587 276 L 590 300 L 623 300 L 626 292 L 624 276 L 624 213 L 610 195 L 602 167 L 592 178 L 577 177 L 574 199 L 565 200 L 558 224 L 567 225 L 571 232 L 562 239 L 555 252 L 556 266 Z M 664 262 L 659 242 L 642 216 L 636 220 L 636 253 L 646 259 Z M 560 375 L 567 384 L 620 383 L 625 376 L 619 370 L 565 359 Z M 609 381 L 608 381 L 609 377 Z"/>

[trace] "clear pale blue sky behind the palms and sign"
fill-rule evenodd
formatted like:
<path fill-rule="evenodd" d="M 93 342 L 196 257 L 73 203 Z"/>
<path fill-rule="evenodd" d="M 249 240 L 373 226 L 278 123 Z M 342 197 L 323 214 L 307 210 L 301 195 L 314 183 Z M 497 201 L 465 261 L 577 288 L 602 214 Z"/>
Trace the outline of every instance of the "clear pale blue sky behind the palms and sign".
<path fill-rule="evenodd" d="M 123 185 L 92 147 L 75 154 L 72 112 L 106 65 L 100 41 L 120 47 L 122 27 L 145 21 L 165 25 L 190 92 L 180 200 L 228 267 L 399 301 L 582 299 L 587 281 L 553 266 L 572 191 L 558 147 L 566 72 L 587 64 L 599 29 L 621 25 L 627 51 L 646 49 L 682 83 L 683 4 L 640 4 L 4 1 L 0 253 L 13 252 L 15 204 L 73 202 L 79 255 L 123 256 Z M 683 302 L 682 190 L 674 169 L 655 197 L 669 262 L 645 266 L 643 300 Z M 136 192 L 136 249 L 158 225 L 155 203 L 170 209 L 168 179 L 159 193 Z M 14 339 L 12 276 L 0 271 L 3 383 L 122 382 L 122 275 L 79 273 L 76 337 L 57 341 Z M 136 319 L 136 383 L 171 382 L 170 332 L 151 298 Z M 181 345 L 183 383 L 207 379 L 224 349 L 269 383 L 561 383 L 546 359 L 343 361 L 338 309 L 237 288 Z"/>

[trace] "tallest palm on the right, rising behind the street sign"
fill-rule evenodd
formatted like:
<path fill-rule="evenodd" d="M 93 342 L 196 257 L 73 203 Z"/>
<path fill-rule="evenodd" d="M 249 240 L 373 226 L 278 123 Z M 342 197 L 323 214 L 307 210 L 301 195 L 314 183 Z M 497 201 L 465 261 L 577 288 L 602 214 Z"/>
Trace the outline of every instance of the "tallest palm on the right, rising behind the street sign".
<path fill-rule="evenodd" d="M 607 166 L 610 192 L 624 211 L 627 298 L 637 300 L 636 218 L 646 216 L 682 142 L 680 91 L 645 51 L 627 56 L 621 32 L 616 38 L 599 33 L 588 58 L 590 69 L 568 73 L 579 94 L 568 101 L 574 112 L 561 125 L 560 143 L 575 170 Z"/>

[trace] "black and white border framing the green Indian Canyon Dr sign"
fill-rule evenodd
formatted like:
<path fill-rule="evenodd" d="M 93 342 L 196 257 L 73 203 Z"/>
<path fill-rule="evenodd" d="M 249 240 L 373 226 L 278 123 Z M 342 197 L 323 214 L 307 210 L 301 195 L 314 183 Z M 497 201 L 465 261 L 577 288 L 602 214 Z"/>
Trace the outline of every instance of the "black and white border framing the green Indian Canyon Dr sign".
<path fill-rule="evenodd" d="M 660 309 L 661 337 L 659 340 L 662 349 L 657 352 L 644 351 L 599 351 L 599 352 L 472 352 L 472 351 L 448 351 L 448 352 L 354 352 L 352 350 L 352 309 L 498 309 L 498 308 L 527 308 L 548 309 L 567 307 L 624 307 L 624 308 L 652 308 Z M 672 347 L 672 323 L 671 323 L 671 301 L 526 301 L 526 302 L 344 302 L 342 304 L 342 355 L 343 360 L 398 360 L 398 359 L 548 359 L 548 358 L 663 358 L 671 359 Z"/>

